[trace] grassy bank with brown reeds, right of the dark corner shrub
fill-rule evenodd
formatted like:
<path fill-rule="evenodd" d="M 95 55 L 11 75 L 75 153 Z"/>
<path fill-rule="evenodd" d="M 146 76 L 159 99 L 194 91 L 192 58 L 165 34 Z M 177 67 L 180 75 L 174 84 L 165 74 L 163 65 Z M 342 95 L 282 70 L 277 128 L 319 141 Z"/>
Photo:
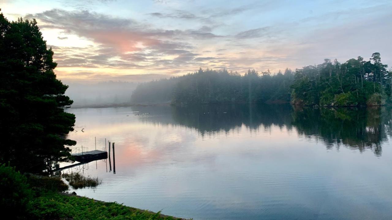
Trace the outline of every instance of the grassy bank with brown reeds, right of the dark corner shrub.
<path fill-rule="evenodd" d="M 69 186 L 62 180 L 69 182 Z M 62 174 L 61 177 L 27 175 L 27 182 L 33 189 L 30 215 L 36 219 L 132 219 L 132 220 L 180 220 L 146 210 L 123 206 L 116 202 L 103 202 L 87 197 L 63 193 L 78 188 L 98 186 L 102 180 L 85 177 L 80 173 Z"/>

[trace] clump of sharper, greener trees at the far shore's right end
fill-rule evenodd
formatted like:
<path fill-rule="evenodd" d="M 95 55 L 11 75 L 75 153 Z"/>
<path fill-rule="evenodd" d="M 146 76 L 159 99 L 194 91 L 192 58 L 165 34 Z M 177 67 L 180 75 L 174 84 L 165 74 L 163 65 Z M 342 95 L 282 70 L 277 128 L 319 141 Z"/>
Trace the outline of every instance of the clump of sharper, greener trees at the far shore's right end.
<path fill-rule="evenodd" d="M 383 105 L 391 97 L 391 72 L 379 53 L 369 61 L 362 57 L 345 63 L 338 60 L 296 71 L 292 101 L 299 105 Z M 388 100 L 389 99 L 389 100 Z"/>

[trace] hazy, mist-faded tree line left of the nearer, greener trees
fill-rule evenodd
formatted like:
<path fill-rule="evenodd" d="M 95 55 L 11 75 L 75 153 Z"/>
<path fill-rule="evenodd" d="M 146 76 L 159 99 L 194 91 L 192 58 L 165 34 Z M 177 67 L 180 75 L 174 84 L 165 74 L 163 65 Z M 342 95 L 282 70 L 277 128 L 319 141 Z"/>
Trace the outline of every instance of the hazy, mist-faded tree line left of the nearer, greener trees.
<path fill-rule="evenodd" d="M 142 83 L 134 90 L 133 103 L 165 103 L 176 105 L 212 103 L 256 103 L 290 101 L 290 85 L 294 72 L 271 74 L 248 70 L 238 72 L 199 69 L 180 77 Z M 162 97 L 162 98 L 161 98 Z"/>

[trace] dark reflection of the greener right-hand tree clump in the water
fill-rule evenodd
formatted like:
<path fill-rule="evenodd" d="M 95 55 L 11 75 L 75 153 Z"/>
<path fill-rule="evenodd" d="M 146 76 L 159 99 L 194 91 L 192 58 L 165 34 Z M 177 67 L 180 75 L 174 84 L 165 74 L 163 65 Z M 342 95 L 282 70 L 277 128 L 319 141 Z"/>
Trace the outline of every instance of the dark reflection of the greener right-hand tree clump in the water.
<path fill-rule="evenodd" d="M 305 108 L 293 111 L 292 124 L 300 135 L 316 138 L 328 149 L 333 146 L 361 152 L 370 149 L 381 156 L 381 142 L 387 141 L 381 111 L 381 108 Z"/>

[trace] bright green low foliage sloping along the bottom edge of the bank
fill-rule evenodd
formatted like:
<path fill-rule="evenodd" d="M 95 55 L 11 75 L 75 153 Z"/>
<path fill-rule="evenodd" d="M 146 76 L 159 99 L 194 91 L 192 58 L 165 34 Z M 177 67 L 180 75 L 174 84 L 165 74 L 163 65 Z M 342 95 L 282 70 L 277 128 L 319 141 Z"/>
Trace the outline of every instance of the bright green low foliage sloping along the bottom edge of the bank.
<path fill-rule="evenodd" d="M 132 219 L 132 220 L 179 220 L 152 213 L 116 202 L 100 202 L 86 197 L 64 195 L 54 191 L 38 191 L 32 201 L 32 214 L 38 219 L 53 220 L 95 220 L 95 219 Z"/>

